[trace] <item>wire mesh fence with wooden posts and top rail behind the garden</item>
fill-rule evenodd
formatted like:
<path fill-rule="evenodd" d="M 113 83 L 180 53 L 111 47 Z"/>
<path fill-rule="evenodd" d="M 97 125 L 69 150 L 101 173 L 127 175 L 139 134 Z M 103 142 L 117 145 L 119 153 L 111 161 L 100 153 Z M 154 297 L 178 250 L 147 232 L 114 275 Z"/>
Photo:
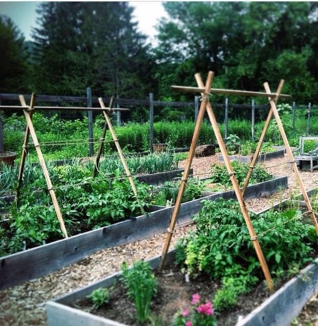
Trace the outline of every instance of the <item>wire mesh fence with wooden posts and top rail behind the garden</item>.
<path fill-rule="evenodd" d="M 94 94 L 93 94 L 94 95 Z M 19 105 L 18 95 L 0 94 L 2 105 Z M 26 101 L 30 96 L 26 96 Z M 109 98 L 104 98 L 105 106 Z M 99 107 L 98 98 L 92 97 L 90 88 L 83 91 L 82 97 L 37 96 L 37 106 L 81 106 Z M 121 99 L 117 97 L 114 107 L 129 111 L 114 111 L 110 117 L 119 143 L 124 153 L 150 152 L 153 144 L 168 144 L 170 148 L 190 146 L 200 106 L 199 97 L 192 102 L 157 101 L 153 95 L 146 99 Z M 213 103 L 219 128 L 223 137 L 236 134 L 242 140 L 256 141 L 261 133 L 269 111 L 269 105 L 249 103 Z M 296 146 L 300 135 L 318 133 L 318 105 L 298 105 L 290 103 L 280 110 L 290 145 Z M 0 150 L 20 152 L 24 139 L 25 119 L 21 110 L 2 111 L 3 124 L 0 124 Z M 33 123 L 44 157 L 67 159 L 94 156 L 97 153 L 105 119 L 101 111 L 45 110 L 33 114 Z M 85 141 L 83 141 L 85 139 Z M 280 145 L 281 139 L 273 121 L 266 140 Z M 106 131 L 102 155 L 111 155 L 116 147 L 111 135 Z M 208 117 L 203 122 L 199 144 L 215 144 L 215 136 Z M 34 149 L 30 149 L 30 155 Z"/>

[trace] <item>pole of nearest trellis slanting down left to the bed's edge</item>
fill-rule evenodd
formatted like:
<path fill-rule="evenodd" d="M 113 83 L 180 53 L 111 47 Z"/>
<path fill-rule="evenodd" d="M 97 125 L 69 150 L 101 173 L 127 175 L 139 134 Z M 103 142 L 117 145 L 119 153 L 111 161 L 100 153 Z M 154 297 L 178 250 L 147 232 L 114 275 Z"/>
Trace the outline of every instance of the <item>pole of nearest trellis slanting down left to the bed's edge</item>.
<path fill-rule="evenodd" d="M 171 222 L 168 228 L 168 234 L 166 236 L 166 240 L 165 240 L 165 244 L 164 244 L 164 249 L 163 249 L 163 253 L 162 253 L 162 257 L 161 257 L 161 262 L 160 262 L 160 267 L 159 269 L 161 270 L 165 264 L 165 260 L 167 257 L 167 252 L 170 246 L 170 242 L 171 242 L 171 238 L 172 238 L 172 234 L 175 228 L 175 223 L 179 214 L 179 210 L 180 210 L 180 205 L 181 205 L 181 200 L 182 197 L 184 195 L 185 189 L 186 189 L 186 185 L 187 185 L 187 180 L 188 180 L 188 176 L 189 176 L 189 172 L 190 172 L 190 168 L 191 168 L 191 164 L 192 164 L 192 159 L 194 156 L 194 152 L 195 152 L 195 147 L 196 147 L 196 143 L 199 137 L 199 132 L 200 132 L 200 128 L 202 125 L 202 121 L 203 118 L 205 116 L 206 113 L 206 108 L 207 108 L 207 103 L 209 101 L 209 97 L 208 97 L 208 93 L 209 90 L 211 88 L 211 84 L 213 81 L 213 76 L 214 73 L 213 72 L 209 72 L 208 78 L 207 78 L 207 82 L 206 82 L 206 86 L 203 87 L 203 95 L 202 95 L 202 102 L 200 105 L 200 110 L 198 113 L 198 118 L 196 120 L 195 123 L 195 128 L 194 128 L 194 132 L 193 132 L 193 136 L 192 136 L 192 142 L 191 142 L 191 146 L 190 146 L 190 150 L 189 150 L 189 154 L 188 154 L 188 158 L 187 158 L 187 163 L 186 163 L 186 167 L 185 167 L 185 171 L 183 174 L 183 177 L 181 178 L 181 183 L 180 183 L 180 188 L 179 188 L 179 192 L 178 192 L 178 196 L 175 202 L 175 206 L 173 209 L 173 213 L 172 213 L 172 217 L 171 217 Z"/>

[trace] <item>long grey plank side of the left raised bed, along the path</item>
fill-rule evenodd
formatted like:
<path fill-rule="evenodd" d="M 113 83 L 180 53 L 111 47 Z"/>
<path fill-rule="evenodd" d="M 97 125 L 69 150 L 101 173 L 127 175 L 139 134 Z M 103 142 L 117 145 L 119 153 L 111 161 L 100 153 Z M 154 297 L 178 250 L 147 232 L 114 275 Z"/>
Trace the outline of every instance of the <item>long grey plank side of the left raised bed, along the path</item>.
<path fill-rule="evenodd" d="M 277 192 L 280 187 L 287 188 L 286 176 L 249 185 L 244 197 L 247 199 L 268 196 Z M 191 217 L 199 212 L 202 199 L 213 201 L 219 197 L 235 199 L 235 192 L 231 190 L 209 194 L 181 204 L 178 223 L 190 222 Z M 161 234 L 169 226 L 174 206 L 155 207 L 157 208 L 162 209 L 0 258 L 0 289 L 24 283 L 74 264 L 98 250 Z"/>

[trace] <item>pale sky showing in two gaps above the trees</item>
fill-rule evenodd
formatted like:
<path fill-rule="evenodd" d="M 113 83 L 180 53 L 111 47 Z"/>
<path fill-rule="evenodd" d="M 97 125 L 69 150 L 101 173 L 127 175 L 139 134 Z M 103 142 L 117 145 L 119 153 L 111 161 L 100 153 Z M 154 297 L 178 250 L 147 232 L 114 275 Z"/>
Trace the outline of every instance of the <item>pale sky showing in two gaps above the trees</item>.
<path fill-rule="evenodd" d="M 36 7 L 40 2 L 0 2 L 0 14 L 9 16 L 18 28 L 24 33 L 27 40 L 31 40 L 31 27 L 35 27 Z M 150 37 L 156 34 L 154 26 L 160 17 L 167 17 L 167 13 L 159 1 L 130 1 L 135 7 L 134 19 L 138 21 L 139 30 Z"/>

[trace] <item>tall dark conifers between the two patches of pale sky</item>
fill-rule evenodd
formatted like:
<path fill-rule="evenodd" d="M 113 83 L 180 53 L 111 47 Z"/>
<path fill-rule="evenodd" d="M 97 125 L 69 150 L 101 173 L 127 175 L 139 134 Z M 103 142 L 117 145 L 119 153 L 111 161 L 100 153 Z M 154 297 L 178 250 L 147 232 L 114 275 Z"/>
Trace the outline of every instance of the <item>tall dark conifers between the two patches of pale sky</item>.
<path fill-rule="evenodd" d="M 96 94 L 140 98 L 155 88 L 145 36 L 128 3 L 41 3 L 37 13 L 37 92 L 83 96 L 89 85 Z"/>

